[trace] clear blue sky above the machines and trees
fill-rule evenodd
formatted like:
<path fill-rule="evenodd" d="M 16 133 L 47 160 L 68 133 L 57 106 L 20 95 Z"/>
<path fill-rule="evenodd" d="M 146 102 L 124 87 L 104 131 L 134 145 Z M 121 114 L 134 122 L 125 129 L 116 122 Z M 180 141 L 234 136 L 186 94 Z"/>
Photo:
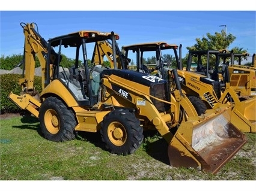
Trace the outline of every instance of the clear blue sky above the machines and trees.
<path fill-rule="evenodd" d="M 95 7 L 95 5 L 94 5 Z M 1 10 L 1 8 L 0 8 Z M 207 33 L 227 30 L 236 40 L 230 44 L 256 53 L 256 10 L 29 10 L 19 7 L 0 11 L 1 55 L 23 53 L 24 35 L 20 22 L 37 23 L 45 40 L 81 30 L 114 31 L 118 46 L 152 41 L 182 44 L 182 55 Z M 226 25 L 220 26 L 220 25 Z M 69 55 L 66 55 L 69 57 Z M 90 57 L 90 56 L 89 56 Z M 249 57 L 248 60 L 251 58 Z"/>

